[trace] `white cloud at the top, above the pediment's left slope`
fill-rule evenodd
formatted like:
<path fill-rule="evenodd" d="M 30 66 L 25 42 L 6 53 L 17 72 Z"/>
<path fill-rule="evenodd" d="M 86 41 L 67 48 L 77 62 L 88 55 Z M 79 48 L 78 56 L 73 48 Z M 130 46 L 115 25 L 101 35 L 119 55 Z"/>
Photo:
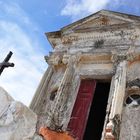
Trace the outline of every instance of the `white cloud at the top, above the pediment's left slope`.
<path fill-rule="evenodd" d="M 108 3 L 109 0 L 67 0 L 61 15 L 71 16 L 72 20 L 76 20 L 103 9 Z"/>

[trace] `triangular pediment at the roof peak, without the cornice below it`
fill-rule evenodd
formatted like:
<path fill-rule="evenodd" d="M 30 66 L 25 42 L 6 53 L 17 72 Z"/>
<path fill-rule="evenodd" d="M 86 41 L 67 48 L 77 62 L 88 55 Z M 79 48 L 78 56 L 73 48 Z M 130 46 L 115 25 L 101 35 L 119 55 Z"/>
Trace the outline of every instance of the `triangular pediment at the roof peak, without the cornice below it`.
<path fill-rule="evenodd" d="M 96 30 L 100 28 L 102 29 L 102 27 L 126 25 L 134 22 L 140 22 L 140 17 L 101 10 L 93 15 L 62 28 L 62 31 L 63 33 L 67 34 L 71 31 L 84 31 L 89 29 Z"/>

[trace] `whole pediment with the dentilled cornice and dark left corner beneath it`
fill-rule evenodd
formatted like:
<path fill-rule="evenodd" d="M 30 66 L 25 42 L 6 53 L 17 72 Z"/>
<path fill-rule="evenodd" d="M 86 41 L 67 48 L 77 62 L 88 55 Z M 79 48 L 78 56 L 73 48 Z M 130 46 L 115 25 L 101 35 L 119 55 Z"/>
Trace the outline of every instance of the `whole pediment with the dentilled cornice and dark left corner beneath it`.
<path fill-rule="evenodd" d="M 108 36 L 111 37 L 116 35 L 120 35 L 121 37 L 129 35 L 130 37 L 130 34 L 132 33 L 130 30 L 139 26 L 139 23 L 140 16 L 101 10 L 67 25 L 59 31 L 46 33 L 46 35 L 52 46 L 55 48 L 57 44 L 70 44 L 72 41 L 80 39 L 85 40 L 88 36 L 89 39 L 92 38 L 96 40 L 99 40 L 99 38 L 105 38 L 105 36 L 108 38 Z"/>

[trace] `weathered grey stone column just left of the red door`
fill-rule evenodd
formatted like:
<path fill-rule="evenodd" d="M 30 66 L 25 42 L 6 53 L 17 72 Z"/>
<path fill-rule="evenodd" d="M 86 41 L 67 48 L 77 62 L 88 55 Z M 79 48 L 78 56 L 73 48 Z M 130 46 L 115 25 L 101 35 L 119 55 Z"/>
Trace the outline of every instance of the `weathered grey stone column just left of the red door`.
<path fill-rule="evenodd" d="M 65 121 L 67 119 L 66 113 L 68 110 L 68 95 L 70 87 L 72 85 L 72 79 L 75 72 L 76 56 L 70 56 L 67 62 L 67 68 L 65 70 L 60 87 L 57 91 L 55 105 L 52 110 L 50 127 L 54 130 L 63 130 Z M 66 60 L 65 60 L 66 63 Z"/>

